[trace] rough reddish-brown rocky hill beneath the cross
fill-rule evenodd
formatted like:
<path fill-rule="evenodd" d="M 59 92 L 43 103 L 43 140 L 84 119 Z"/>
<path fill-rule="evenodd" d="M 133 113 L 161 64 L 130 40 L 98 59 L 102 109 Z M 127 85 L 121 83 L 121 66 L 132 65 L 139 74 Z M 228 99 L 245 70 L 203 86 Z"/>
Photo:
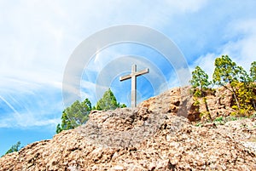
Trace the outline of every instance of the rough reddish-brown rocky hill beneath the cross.
<path fill-rule="evenodd" d="M 207 102 L 212 118 L 232 111 L 224 89 Z M 91 111 L 83 126 L 0 158 L 0 170 L 256 170 L 255 117 L 198 127 L 205 109 L 193 104 L 189 88 L 172 88 L 134 109 Z"/>

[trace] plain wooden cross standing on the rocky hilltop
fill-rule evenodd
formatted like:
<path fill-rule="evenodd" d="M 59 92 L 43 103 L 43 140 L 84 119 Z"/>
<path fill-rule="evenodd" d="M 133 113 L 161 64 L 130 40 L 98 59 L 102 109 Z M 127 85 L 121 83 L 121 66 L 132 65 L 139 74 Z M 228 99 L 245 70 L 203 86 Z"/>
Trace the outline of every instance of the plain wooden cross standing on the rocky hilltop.
<path fill-rule="evenodd" d="M 149 72 L 149 69 L 146 68 L 142 71 L 137 71 L 137 66 L 134 64 L 131 67 L 131 74 L 119 77 L 120 81 L 125 81 L 131 78 L 131 107 L 137 106 L 137 77 Z"/>

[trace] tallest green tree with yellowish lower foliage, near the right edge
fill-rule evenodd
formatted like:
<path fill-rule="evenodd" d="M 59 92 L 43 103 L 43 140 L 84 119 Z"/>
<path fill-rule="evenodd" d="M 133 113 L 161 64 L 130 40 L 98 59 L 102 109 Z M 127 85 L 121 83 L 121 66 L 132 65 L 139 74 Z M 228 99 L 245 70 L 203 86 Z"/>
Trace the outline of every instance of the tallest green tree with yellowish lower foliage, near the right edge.
<path fill-rule="evenodd" d="M 215 70 L 213 73 L 213 83 L 224 86 L 232 92 L 236 105 L 232 107 L 241 115 L 249 115 L 255 109 L 255 92 L 253 73 L 255 63 L 252 63 L 251 77 L 241 66 L 236 66 L 228 55 L 223 55 L 215 60 Z"/>

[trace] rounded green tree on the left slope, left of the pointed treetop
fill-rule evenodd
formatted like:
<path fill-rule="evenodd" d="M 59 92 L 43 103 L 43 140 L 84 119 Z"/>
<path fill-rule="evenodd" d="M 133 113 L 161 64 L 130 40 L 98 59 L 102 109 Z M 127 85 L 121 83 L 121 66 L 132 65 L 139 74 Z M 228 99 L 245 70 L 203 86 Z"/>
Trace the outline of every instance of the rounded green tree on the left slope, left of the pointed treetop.
<path fill-rule="evenodd" d="M 67 109 L 62 112 L 61 124 L 57 125 L 56 133 L 58 134 L 62 130 L 76 128 L 79 125 L 86 123 L 90 111 L 90 100 L 85 99 L 82 102 L 76 100 L 70 107 L 67 107 Z"/>

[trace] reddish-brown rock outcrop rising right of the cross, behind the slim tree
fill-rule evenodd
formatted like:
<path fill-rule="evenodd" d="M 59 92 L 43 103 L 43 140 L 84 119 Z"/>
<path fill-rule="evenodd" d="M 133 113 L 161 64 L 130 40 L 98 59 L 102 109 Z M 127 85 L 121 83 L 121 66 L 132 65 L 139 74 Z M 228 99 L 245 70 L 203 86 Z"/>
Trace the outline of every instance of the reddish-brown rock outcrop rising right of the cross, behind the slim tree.
<path fill-rule="evenodd" d="M 143 101 L 139 107 L 145 107 L 149 111 L 160 113 L 170 112 L 177 116 L 187 117 L 190 122 L 200 121 L 201 113 L 207 111 L 202 98 L 197 99 L 199 104 L 195 105 L 195 98 L 190 94 L 190 87 L 172 88 L 164 94 Z M 225 88 L 217 88 L 212 94 L 206 96 L 207 107 L 211 118 L 219 116 L 227 117 L 232 111 L 233 95 Z"/>

